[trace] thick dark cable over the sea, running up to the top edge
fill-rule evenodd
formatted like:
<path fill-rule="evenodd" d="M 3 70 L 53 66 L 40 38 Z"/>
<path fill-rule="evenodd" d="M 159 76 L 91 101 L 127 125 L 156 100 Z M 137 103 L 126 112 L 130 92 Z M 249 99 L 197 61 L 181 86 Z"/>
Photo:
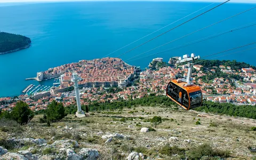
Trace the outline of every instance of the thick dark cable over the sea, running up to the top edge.
<path fill-rule="evenodd" d="M 148 41 L 146 41 L 146 42 L 144 42 L 144 43 L 142 43 L 142 44 L 140 44 L 140 45 L 138 45 L 138 46 L 135 46 L 133 49 L 130 49 L 130 50 L 128 50 L 128 51 L 126 51 L 126 52 L 124 52 L 124 53 L 118 55 L 117 58 L 119 58 L 121 55 L 124 55 L 124 54 L 126 54 L 126 53 L 128 53 L 128 52 L 131 52 L 131 51 L 137 49 L 138 47 L 140 47 L 140 46 L 142 46 L 142 45 L 144 45 L 144 44 L 146 44 L 146 43 L 148 43 L 148 42 L 150 42 L 150 41 L 153 41 L 155 38 L 160 37 L 160 36 L 162 36 L 162 35 L 168 33 L 169 31 L 171 31 L 171 30 L 173 30 L 173 29 L 175 29 L 175 28 L 178 28 L 178 27 L 182 26 L 182 25 L 184 25 L 185 23 L 187 23 L 187 22 L 189 22 L 189 21 L 191 21 L 191 20 L 193 20 L 193 19 L 196 19 L 196 18 L 200 17 L 201 15 L 203 15 L 203 14 L 205 14 L 205 13 L 207 13 L 207 12 L 209 12 L 209 11 L 211 11 L 211 10 L 213 10 L 213 9 L 215 9 L 215 8 L 221 6 L 221 5 L 223 5 L 223 4 L 225 4 L 225 3 L 229 2 L 229 1 L 230 1 L 230 0 L 228 0 L 228 1 L 226 1 L 226 2 L 223 2 L 223 3 L 221 3 L 221 4 L 219 4 L 219 5 L 215 6 L 215 7 L 213 7 L 212 9 L 207 10 L 207 11 L 205 11 L 205 12 L 203 12 L 203 13 L 197 15 L 196 17 L 191 18 L 191 19 L 189 19 L 189 20 L 187 20 L 187 21 L 181 23 L 180 25 L 175 26 L 175 27 L 173 27 L 173 28 L 171 28 L 171 29 L 165 31 L 164 33 L 162 33 L 162 34 L 160 34 L 160 35 L 158 35 L 158 36 L 156 36 L 156 37 L 154 37 L 154 38 L 151 38 L 151 39 L 149 39 Z"/>

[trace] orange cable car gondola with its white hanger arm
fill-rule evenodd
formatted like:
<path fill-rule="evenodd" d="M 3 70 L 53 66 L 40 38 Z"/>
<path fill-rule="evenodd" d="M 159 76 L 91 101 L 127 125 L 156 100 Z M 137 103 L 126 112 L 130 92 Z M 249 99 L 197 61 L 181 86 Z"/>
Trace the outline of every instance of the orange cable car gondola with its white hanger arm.
<path fill-rule="evenodd" d="M 188 54 L 183 55 L 183 59 L 179 58 L 177 63 L 189 62 L 188 76 L 187 79 L 175 79 L 172 80 L 166 87 L 166 95 L 183 109 L 189 110 L 202 105 L 203 95 L 201 87 L 191 83 L 192 67 L 195 59 L 200 57 L 195 57 L 192 53 L 191 57 Z"/>

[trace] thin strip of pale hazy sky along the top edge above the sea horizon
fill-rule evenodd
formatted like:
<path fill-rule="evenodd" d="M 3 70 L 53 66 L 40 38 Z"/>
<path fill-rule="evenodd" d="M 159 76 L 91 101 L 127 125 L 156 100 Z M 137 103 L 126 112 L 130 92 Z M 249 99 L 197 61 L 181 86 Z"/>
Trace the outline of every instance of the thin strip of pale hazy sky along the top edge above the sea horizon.
<path fill-rule="evenodd" d="M 0 3 L 12 2 L 63 2 L 63 1 L 201 1 L 201 2 L 224 2 L 225 0 L 0 0 Z M 256 0 L 231 0 L 234 3 L 256 3 Z"/>

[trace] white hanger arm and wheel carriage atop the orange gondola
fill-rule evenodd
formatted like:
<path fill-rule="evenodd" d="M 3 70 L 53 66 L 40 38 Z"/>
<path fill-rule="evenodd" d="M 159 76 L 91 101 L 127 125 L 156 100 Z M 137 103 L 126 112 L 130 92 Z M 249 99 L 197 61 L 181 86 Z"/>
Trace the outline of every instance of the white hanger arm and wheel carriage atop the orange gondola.
<path fill-rule="evenodd" d="M 188 65 L 188 76 L 187 79 L 178 79 L 178 82 L 187 82 L 187 85 L 191 85 L 193 83 L 191 83 L 191 75 L 192 75 L 192 69 L 193 69 L 193 62 L 196 59 L 199 59 L 200 56 L 196 56 L 194 53 L 191 53 L 191 56 L 189 56 L 188 54 L 183 55 L 183 59 L 181 57 L 179 57 L 179 60 L 177 61 L 177 64 L 179 63 L 187 63 Z"/>

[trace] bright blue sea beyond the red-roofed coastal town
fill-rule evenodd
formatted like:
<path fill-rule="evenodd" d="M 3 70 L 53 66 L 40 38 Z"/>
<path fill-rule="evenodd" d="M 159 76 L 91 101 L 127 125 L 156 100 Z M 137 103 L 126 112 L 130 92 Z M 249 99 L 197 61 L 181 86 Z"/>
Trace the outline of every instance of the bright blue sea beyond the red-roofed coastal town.
<path fill-rule="evenodd" d="M 7 3 L 0 4 L 0 30 L 31 38 L 31 47 L 18 52 L 0 55 L 0 97 L 20 95 L 29 84 L 52 85 L 53 81 L 25 81 L 38 71 L 79 60 L 105 57 L 107 54 L 162 28 L 211 3 L 202 2 L 63 2 L 63 3 Z M 117 57 L 150 38 L 179 25 L 195 15 L 190 15 L 140 41 L 125 47 L 109 57 Z M 166 42 L 177 39 L 231 15 L 250 9 L 255 4 L 227 3 L 185 25 L 154 39 L 138 49 L 122 55 L 127 60 Z M 256 19 L 256 9 L 227 21 L 179 39 L 150 51 L 145 55 L 166 50 L 196 39 L 247 25 Z M 147 67 L 151 59 L 196 53 L 205 55 L 256 42 L 256 26 L 234 31 L 207 41 L 169 52 L 129 61 L 131 65 Z M 249 49 L 256 45 L 247 46 Z M 233 51 L 233 52 L 236 52 Z M 215 58 L 232 52 L 214 55 Z M 217 59 L 237 60 L 256 66 L 256 50 L 231 54 Z M 137 58 L 140 58 L 137 57 Z"/>

